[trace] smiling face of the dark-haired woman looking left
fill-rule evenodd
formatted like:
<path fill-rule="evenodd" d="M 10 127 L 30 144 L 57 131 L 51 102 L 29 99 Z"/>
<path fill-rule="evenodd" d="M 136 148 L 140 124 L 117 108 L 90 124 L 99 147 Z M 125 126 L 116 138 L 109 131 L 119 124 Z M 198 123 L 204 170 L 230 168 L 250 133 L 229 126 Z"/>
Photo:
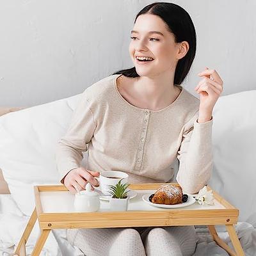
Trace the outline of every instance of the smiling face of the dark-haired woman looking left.
<path fill-rule="evenodd" d="M 135 32 L 134 32 L 135 31 Z M 158 31 L 159 33 L 150 33 Z M 138 32 L 138 33 L 137 33 Z M 131 32 L 129 54 L 136 72 L 140 76 L 157 76 L 162 72 L 175 72 L 179 58 L 180 44 L 175 43 L 174 35 L 166 29 L 166 24 L 157 15 L 140 15 Z M 136 56 L 151 57 L 153 61 L 138 61 Z"/>

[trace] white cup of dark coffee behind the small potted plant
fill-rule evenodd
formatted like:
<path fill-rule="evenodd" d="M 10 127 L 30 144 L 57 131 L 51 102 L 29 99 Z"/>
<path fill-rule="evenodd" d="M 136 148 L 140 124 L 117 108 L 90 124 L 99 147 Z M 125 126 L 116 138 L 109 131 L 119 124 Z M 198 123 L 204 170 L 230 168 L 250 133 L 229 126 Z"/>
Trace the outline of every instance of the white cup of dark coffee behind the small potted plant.
<path fill-rule="evenodd" d="M 105 171 L 101 172 L 99 177 L 95 177 L 95 179 L 99 180 L 99 188 L 104 195 L 111 195 L 109 193 L 109 186 L 108 185 L 113 185 L 115 186 L 119 180 L 122 179 L 121 184 L 125 184 L 128 182 L 128 177 L 129 175 L 125 172 L 119 172 L 119 171 Z"/>

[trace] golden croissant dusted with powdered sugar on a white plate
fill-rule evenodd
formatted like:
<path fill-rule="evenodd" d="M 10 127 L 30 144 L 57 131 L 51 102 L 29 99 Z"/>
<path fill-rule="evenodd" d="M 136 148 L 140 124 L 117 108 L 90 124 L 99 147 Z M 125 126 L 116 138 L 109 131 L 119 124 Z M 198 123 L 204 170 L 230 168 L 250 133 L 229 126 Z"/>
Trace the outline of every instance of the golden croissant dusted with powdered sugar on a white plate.
<path fill-rule="evenodd" d="M 179 184 L 163 184 L 152 197 L 155 204 L 180 204 L 182 203 L 182 188 Z"/>

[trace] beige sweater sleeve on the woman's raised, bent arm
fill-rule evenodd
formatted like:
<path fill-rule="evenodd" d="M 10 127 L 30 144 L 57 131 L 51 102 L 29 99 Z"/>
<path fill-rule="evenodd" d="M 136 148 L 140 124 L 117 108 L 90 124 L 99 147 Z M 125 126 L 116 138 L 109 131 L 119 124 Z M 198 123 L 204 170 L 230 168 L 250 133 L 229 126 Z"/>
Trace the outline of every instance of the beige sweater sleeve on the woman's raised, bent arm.
<path fill-rule="evenodd" d="M 198 111 L 184 127 L 182 141 L 177 154 L 179 170 L 176 180 L 187 193 L 195 194 L 211 178 L 212 122 L 198 123 Z M 196 119 L 195 119 L 196 118 Z"/>

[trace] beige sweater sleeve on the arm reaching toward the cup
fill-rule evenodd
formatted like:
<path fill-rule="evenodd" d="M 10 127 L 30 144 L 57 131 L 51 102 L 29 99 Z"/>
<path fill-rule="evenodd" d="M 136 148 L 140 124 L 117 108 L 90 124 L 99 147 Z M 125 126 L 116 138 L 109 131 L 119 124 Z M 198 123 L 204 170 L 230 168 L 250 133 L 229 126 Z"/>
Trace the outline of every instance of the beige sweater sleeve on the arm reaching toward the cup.
<path fill-rule="evenodd" d="M 96 124 L 90 103 L 86 99 L 86 90 L 81 93 L 81 99 L 70 120 L 68 130 L 56 148 L 56 164 L 60 173 L 61 183 L 70 170 L 81 167 L 83 152 L 92 139 Z"/>

